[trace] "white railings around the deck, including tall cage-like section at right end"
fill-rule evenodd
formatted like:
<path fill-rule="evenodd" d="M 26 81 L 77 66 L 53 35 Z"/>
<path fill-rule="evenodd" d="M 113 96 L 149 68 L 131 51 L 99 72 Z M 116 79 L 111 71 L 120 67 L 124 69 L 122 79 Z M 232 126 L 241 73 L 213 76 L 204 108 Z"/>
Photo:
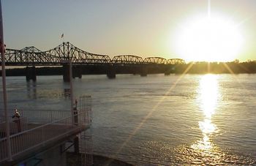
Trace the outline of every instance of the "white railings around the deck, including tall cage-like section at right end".
<path fill-rule="evenodd" d="M 17 156 L 32 148 L 48 143 L 50 140 L 68 136 L 78 129 L 82 131 L 91 126 L 91 96 L 80 97 L 78 110 L 18 110 L 19 125 L 10 119 L 11 156 Z M 8 159 L 5 121 L 0 116 L 0 164 Z M 86 148 L 86 146 L 84 146 Z"/>

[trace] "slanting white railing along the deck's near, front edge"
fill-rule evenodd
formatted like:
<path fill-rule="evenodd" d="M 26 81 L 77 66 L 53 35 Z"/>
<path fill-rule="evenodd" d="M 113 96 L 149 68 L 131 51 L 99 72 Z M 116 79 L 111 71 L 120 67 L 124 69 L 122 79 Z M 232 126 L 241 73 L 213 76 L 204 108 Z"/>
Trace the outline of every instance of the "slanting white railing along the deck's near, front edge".
<path fill-rule="evenodd" d="M 11 154 L 16 156 L 31 148 L 39 146 L 43 143 L 47 143 L 50 140 L 54 140 L 62 135 L 67 135 L 68 132 L 72 132 L 72 129 L 78 129 L 78 127 L 85 127 L 83 117 L 86 116 L 84 111 L 78 111 L 75 116 L 69 116 L 60 118 L 49 123 L 37 125 L 31 129 L 27 129 L 22 132 L 18 132 L 10 136 Z M 78 119 L 75 121 L 75 125 L 72 124 L 72 118 Z M 0 162 L 7 159 L 7 137 L 0 139 Z"/>

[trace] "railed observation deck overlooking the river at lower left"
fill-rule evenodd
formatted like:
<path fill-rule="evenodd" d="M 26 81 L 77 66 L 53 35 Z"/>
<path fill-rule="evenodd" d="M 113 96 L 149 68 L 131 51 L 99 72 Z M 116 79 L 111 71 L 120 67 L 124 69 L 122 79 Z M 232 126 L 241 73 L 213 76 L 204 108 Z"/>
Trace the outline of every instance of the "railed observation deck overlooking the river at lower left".
<path fill-rule="evenodd" d="M 11 161 L 7 151 L 6 122 L 0 117 L 0 165 L 18 164 L 53 146 L 74 140 L 76 135 L 91 127 L 90 105 L 73 113 L 70 110 L 20 110 L 20 118 L 10 118 Z"/>

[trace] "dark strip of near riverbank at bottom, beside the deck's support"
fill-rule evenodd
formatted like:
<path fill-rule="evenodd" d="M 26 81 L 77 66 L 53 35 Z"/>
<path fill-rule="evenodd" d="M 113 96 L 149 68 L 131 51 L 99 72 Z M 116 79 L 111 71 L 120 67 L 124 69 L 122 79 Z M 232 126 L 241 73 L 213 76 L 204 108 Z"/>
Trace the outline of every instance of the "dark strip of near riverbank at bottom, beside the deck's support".
<path fill-rule="evenodd" d="M 94 154 L 94 165 L 108 165 L 108 166 L 132 166 L 127 162 L 122 162 L 118 159 L 110 159 L 107 156 L 99 156 Z M 81 155 L 74 153 L 67 153 L 67 166 L 81 165 Z"/>

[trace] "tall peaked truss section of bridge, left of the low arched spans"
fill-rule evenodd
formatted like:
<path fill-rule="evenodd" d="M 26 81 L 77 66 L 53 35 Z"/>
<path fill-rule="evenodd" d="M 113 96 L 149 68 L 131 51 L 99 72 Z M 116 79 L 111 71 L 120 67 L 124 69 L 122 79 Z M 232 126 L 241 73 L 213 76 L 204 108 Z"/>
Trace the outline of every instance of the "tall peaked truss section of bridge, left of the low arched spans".
<path fill-rule="evenodd" d="M 7 66 L 54 66 L 61 65 L 61 61 L 67 59 L 72 59 L 72 64 L 110 64 L 111 62 L 109 56 L 88 53 L 69 42 L 47 51 L 40 51 L 34 47 L 21 50 L 7 49 L 5 56 Z"/>

